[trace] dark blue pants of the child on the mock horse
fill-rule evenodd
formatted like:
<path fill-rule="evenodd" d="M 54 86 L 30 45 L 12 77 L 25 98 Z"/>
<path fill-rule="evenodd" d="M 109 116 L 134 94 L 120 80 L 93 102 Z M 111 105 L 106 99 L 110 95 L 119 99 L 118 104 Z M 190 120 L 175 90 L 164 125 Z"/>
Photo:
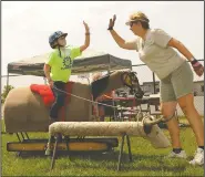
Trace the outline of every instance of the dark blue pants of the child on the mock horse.
<path fill-rule="evenodd" d="M 55 121 L 58 118 L 60 108 L 64 105 L 65 96 L 66 96 L 64 92 L 60 92 L 59 90 L 64 91 L 65 84 L 66 83 L 61 82 L 61 81 L 57 81 L 53 83 L 52 92 L 55 97 L 55 101 L 52 104 L 51 110 L 50 110 L 50 118 L 55 119 Z"/>

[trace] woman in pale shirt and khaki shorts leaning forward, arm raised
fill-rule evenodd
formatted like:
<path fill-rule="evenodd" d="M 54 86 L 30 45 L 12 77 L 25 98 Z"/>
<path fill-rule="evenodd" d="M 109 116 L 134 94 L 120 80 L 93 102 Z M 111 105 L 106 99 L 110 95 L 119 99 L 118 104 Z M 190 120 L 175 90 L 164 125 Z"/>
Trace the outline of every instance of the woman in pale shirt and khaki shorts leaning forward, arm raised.
<path fill-rule="evenodd" d="M 194 131 L 198 145 L 196 155 L 189 164 L 203 165 L 204 125 L 194 106 L 193 72 L 186 59 L 191 61 L 198 76 L 203 75 L 204 66 L 194 59 L 194 55 L 178 40 L 161 29 L 150 29 L 150 20 L 143 12 L 131 14 L 125 23 L 137 35 L 133 41 L 125 41 L 116 33 L 113 29 L 115 19 L 115 15 L 113 19 L 110 19 L 107 29 L 112 38 L 120 48 L 139 52 L 140 59 L 161 80 L 161 107 L 165 117 L 174 115 L 176 104 L 178 103 Z M 181 56 L 174 49 L 185 58 Z M 186 158 L 186 153 L 182 149 L 176 118 L 168 121 L 167 127 L 173 146 L 168 157 Z"/>

